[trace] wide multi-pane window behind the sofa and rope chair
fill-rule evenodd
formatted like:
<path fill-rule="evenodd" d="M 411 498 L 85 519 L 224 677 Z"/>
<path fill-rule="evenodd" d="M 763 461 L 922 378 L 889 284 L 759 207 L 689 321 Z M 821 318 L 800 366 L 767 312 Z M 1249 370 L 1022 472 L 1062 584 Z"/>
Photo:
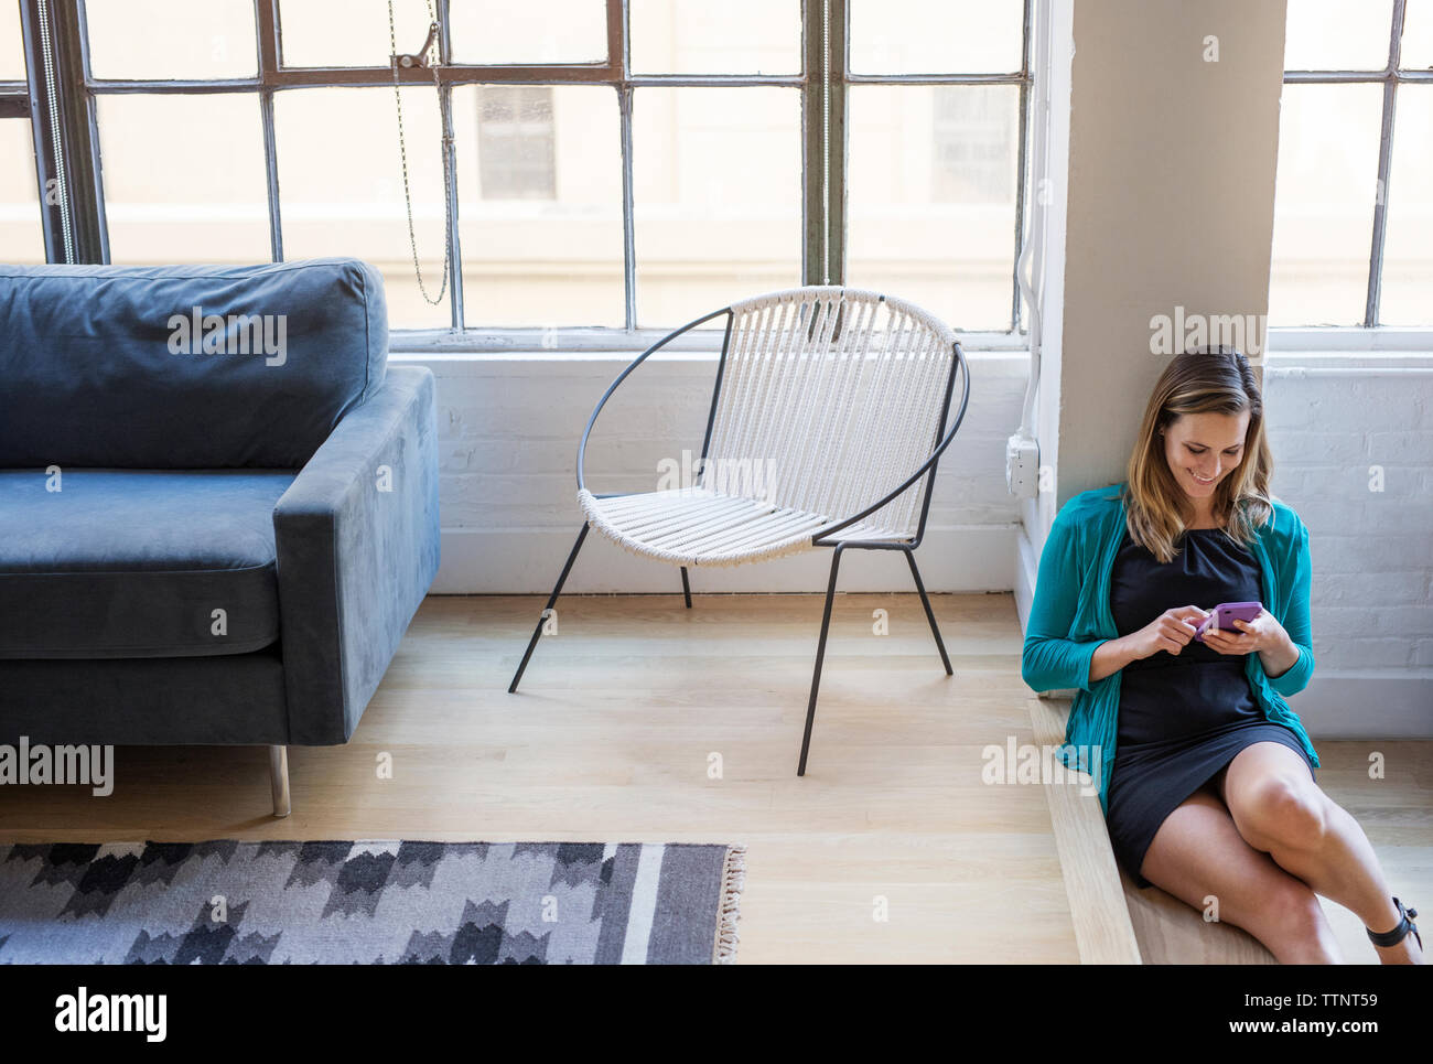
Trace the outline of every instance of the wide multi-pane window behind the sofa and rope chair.
<path fill-rule="evenodd" d="M 54 260 L 62 224 L 77 261 L 357 255 L 413 343 L 619 344 L 804 282 L 1020 328 L 1033 0 L 21 7 L 70 148 Z M 434 67 L 391 62 L 434 20 Z"/>

